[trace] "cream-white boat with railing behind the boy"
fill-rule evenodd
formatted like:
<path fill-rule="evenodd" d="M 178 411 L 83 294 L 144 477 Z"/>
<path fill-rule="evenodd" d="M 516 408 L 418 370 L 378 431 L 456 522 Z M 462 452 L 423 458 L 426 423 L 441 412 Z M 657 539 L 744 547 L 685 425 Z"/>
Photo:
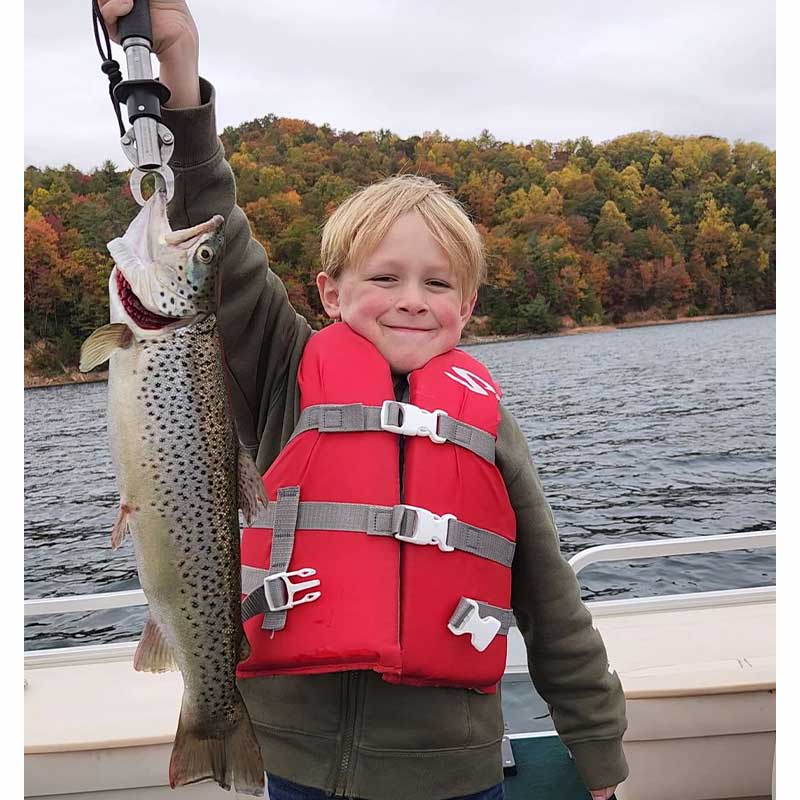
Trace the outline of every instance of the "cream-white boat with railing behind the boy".
<path fill-rule="evenodd" d="M 601 561 L 762 547 L 775 547 L 775 531 L 601 545 L 569 563 L 579 573 Z M 618 800 L 774 798 L 775 596 L 767 586 L 587 603 L 627 701 L 630 776 Z M 141 590 L 28 600 L 25 615 L 146 603 Z M 183 684 L 177 672 L 135 672 L 135 648 L 125 642 L 25 653 L 26 798 L 234 796 L 211 782 L 169 788 Z M 507 800 L 586 800 L 533 691 L 516 628 L 501 691 Z M 530 697 L 542 713 L 506 714 L 507 700 Z"/>

